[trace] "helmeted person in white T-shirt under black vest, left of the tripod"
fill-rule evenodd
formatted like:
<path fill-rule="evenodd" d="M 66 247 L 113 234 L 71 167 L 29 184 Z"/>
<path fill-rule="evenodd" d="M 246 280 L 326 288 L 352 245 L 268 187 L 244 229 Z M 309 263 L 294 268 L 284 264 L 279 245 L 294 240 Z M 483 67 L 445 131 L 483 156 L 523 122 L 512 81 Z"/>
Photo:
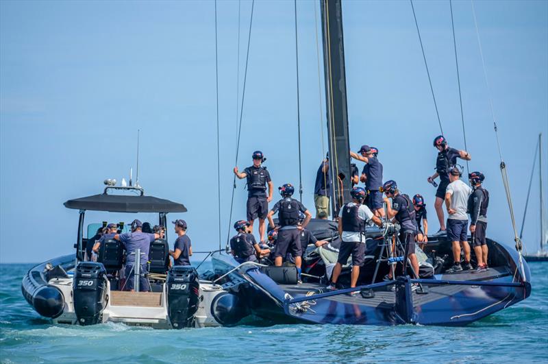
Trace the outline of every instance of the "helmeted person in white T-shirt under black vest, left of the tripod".
<path fill-rule="evenodd" d="M 338 219 L 338 233 L 343 239 L 338 251 L 337 264 L 333 269 L 331 284 L 328 289 L 335 289 L 340 271 L 352 256 L 352 273 L 350 278 L 350 287 L 356 287 L 358 277 L 360 276 L 360 267 L 365 260 L 365 224 L 369 221 L 378 226 L 382 225 L 381 220 L 373 215 L 371 210 L 363 203 L 366 192 L 362 187 L 354 187 L 350 191 L 352 202 L 345 204 L 340 209 Z M 356 295 L 358 291 L 353 291 L 350 295 Z"/>

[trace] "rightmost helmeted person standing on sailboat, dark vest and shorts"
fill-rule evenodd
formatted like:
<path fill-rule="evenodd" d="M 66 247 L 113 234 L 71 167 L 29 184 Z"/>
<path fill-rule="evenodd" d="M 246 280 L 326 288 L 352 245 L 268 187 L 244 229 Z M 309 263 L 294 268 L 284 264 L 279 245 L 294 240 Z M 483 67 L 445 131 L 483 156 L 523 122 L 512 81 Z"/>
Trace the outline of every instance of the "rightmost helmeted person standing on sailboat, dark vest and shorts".
<path fill-rule="evenodd" d="M 472 247 L 477 267 L 473 273 L 487 270 L 487 241 L 485 239 L 487 230 L 487 208 L 489 207 L 489 192 L 484 189 L 484 173 L 472 172 L 469 174 L 470 184 L 473 193 L 468 199 L 468 210 L 470 213 L 470 232 L 472 234 Z"/>

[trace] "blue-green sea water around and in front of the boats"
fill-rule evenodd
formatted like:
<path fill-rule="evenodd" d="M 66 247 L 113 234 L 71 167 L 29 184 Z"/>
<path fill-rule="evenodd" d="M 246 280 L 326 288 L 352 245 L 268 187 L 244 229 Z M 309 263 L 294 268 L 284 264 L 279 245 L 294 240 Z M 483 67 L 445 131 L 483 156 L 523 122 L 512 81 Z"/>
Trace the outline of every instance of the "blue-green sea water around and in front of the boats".
<path fill-rule="evenodd" d="M 1 363 L 548 362 L 548 264 L 530 298 L 465 328 L 240 326 L 186 330 L 52 326 L 21 295 L 32 265 L 0 265 Z"/>

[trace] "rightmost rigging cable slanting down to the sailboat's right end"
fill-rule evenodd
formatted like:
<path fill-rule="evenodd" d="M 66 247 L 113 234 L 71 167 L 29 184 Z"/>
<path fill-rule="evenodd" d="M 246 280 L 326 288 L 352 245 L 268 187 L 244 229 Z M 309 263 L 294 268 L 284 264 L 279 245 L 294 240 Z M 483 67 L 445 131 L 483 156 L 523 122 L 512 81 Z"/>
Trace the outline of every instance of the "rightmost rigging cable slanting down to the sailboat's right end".
<path fill-rule="evenodd" d="M 487 93 L 489 95 L 489 105 L 491 109 L 491 117 L 493 117 L 493 129 L 495 130 L 495 136 L 497 137 L 497 147 L 499 149 L 499 157 L 500 157 L 500 169 L 501 169 L 501 176 L 502 176 L 502 183 L 504 185 L 504 191 L 506 192 L 506 200 L 508 202 L 508 208 L 510 210 L 510 219 L 512 220 L 512 228 L 514 229 L 514 241 L 516 242 L 516 250 L 518 251 L 519 256 L 519 267 L 521 268 L 521 278 L 525 280 L 525 269 L 523 268 L 523 256 L 521 254 L 521 249 L 523 247 L 521 243 L 521 239 L 518 236 L 518 232 L 516 229 L 516 219 L 514 216 L 514 206 L 512 205 L 512 194 L 510 193 L 510 182 L 508 182 L 508 171 L 506 169 L 506 163 L 504 162 L 502 158 L 502 152 L 501 152 L 501 144 L 499 141 L 499 130 L 497 128 L 497 120 L 495 119 L 495 110 L 493 109 L 493 97 L 491 97 L 491 90 L 489 86 L 489 81 L 487 77 L 487 69 L 485 66 L 485 58 L 484 58 L 484 52 L 482 49 L 482 40 L 479 38 L 479 29 L 477 27 L 477 19 L 475 16 L 475 8 L 474 8 L 474 1 L 470 0 L 470 3 L 472 5 L 472 15 L 474 18 L 474 25 L 475 25 L 475 34 L 477 36 L 477 45 L 479 46 L 479 55 L 482 57 L 482 68 L 484 71 L 484 79 L 485 84 L 487 86 Z M 518 267 L 516 267 L 517 269 Z"/>

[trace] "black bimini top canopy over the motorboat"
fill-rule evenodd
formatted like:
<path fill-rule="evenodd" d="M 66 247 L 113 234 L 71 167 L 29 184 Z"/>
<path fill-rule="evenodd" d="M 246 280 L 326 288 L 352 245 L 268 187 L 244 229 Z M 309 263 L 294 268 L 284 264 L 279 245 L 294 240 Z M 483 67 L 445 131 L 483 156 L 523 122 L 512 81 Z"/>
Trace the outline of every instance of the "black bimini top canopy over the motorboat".
<path fill-rule="evenodd" d="M 183 204 L 152 196 L 92 195 L 69 199 L 66 208 L 76 210 L 109 211 L 111 213 L 186 213 Z"/>

